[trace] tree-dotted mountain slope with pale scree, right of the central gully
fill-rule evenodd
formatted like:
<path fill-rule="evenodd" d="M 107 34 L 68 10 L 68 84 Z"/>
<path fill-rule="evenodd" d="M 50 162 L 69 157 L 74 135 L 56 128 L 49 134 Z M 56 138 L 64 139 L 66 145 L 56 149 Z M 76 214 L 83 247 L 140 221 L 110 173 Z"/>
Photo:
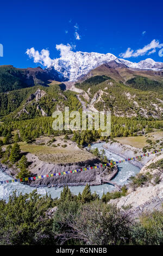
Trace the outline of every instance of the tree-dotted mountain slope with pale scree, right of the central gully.
<path fill-rule="evenodd" d="M 100 76 L 95 76 L 73 86 L 74 91 L 75 87 L 80 89 L 78 97 L 85 100 L 87 108 L 92 111 L 110 110 L 117 117 L 162 119 L 163 95 L 142 92 L 123 83 L 117 83 L 110 77 L 101 78 L 100 80 Z"/>

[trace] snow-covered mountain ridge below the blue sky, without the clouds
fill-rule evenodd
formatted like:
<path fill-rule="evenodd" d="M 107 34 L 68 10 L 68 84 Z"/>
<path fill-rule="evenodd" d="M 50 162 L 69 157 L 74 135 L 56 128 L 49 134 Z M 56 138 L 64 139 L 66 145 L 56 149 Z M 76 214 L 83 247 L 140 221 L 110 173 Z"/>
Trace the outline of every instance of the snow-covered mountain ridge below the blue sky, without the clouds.
<path fill-rule="evenodd" d="M 64 57 L 54 59 L 52 66 L 60 74 L 70 81 L 76 81 L 80 76 L 86 75 L 90 70 L 97 68 L 105 63 L 115 60 L 117 63 L 125 64 L 128 68 L 146 69 L 146 70 L 163 70 L 163 63 L 155 62 L 153 59 L 141 60 L 139 63 L 133 63 L 129 60 L 118 59 L 111 53 L 96 52 L 68 52 Z"/>

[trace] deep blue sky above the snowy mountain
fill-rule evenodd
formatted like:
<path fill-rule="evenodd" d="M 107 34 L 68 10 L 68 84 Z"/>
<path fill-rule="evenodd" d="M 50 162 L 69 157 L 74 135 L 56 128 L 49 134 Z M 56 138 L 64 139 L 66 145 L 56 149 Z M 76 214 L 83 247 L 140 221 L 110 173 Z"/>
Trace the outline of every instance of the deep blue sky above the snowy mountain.
<path fill-rule="evenodd" d="M 72 51 L 110 52 L 117 57 L 123 53 L 132 62 L 163 62 L 158 54 L 158 45 L 163 44 L 162 1 L 15 0 L 1 1 L 0 8 L 0 65 L 38 66 L 25 53 L 27 48 L 44 48 L 51 58 L 58 58 L 59 44 L 70 44 Z M 147 45 L 150 50 L 137 52 Z M 124 54 L 128 48 L 129 54 Z"/>

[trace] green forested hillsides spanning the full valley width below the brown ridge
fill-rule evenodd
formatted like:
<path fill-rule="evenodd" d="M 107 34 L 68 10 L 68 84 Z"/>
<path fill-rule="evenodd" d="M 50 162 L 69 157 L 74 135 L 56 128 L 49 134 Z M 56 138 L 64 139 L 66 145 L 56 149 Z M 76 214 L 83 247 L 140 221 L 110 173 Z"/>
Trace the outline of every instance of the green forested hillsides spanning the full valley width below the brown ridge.
<path fill-rule="evenodd" d="M 144 135 L 163 128 L 163 95 L 160 93 L 135 89 L 108 76 L 95 76 L 76 83 L 75 87 L 82 89 L 82 93 L 62 90 L 62 87 L 53 82 L 48 87 L 0 93 L 1 136 L 8 137 L 9 131 L 18 130 L 21 140 L 30 142 L 42 135 L 65 133 L 52 129 L 52 113 L 64 111 L 65 106 L 70 107 L 70 111 L 81 111 L 81 99 L 87 109 L 111 111 L 112 138 Z M 8 141 L 12 142 L 10 138 Z M 74 132 L 73 141 L 83 146 L 99 138 L 108 139 L 101 137 L 101 131 L 82 131 Z"/>

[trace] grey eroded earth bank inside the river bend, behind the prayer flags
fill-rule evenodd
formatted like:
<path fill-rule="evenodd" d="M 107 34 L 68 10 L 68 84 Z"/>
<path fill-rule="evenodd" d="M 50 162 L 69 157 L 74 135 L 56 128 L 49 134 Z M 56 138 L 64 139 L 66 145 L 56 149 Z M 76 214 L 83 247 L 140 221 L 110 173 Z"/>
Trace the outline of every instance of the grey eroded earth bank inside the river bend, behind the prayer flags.
<path fill-rule="evenodd" d="M 37 157 L 36 157 L 37 158 Z M 38 159 L 37 159 L 38 160 Z M 40 162 L 40 160 L 39 160 Z M 33 163 L 35 165 L 35 161 Z M 31 164 L 31 165 L 32 165 Z M 74 169 L 81 169 L 84 167 L 90 167 L 90 166 L 96 166 L 97 164 L 100 164 L 99 159 L 95 158 L 94 160 L 85 161 L 85 162 L 79 162 L 76 164 L 70 164 L 68 166 L 62 166 L 58 164 L 51 164 L 41 161 L 42 168 L 37 168 L 39 172 L 35 172 L 33 169 L 32 176 L 40 176 L 40 175 L 51 175 L 52 173 L 58 173 L 58 172 L 66 172 L 69 170 Z M 39 165 L 41 166 L 41 165 Z M 38 166 L 37 166 L 38 167 Z M 43 168 L 45 167 L 45 169 Z M 100 167 L 97 169 L 89 169 L 86 171 L 82 171 L 79 173 L 73 173 L 73 174 L 66 174 L 61 176 L 52 176 L 52 177 L 46 177 L 43 179 L 37 179 L 34 181 L 28 181 L 28 182 L 22 182 L 22 184 L 26 184 L 32 187 L 63 187 L 65 185 L 68 186 L 84 186 L 87 183 L 91 186 L 98 186 L 108 183 L 111 179 L 113 179 L 117 173 L 118 173 L 118 167 L 114 166 L 111 168 L 111 172 L 109 175 L 105 176 L 105 180 L 101 177 L 101 174 L 104 173 L 104 171 L 109 167 Z M 5 174 L 10 175 L 11 179 L 15 179 L 17 175 L 17 168 L 8 168 L 5 166 L 5 164 L 0 164 L 0 169 Z M 30 170 L 32 169 L 32 166 L 30 166 Z M 45 173 L 46 170 L 46 173 Z"/>

